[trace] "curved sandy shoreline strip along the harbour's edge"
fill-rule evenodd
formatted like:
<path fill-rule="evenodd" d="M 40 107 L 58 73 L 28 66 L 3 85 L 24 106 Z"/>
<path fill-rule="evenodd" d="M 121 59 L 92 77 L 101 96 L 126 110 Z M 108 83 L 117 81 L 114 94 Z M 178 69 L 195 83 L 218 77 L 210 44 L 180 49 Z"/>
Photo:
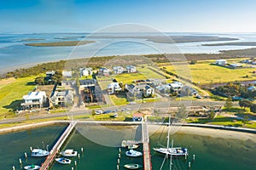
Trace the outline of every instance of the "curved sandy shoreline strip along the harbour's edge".
<path fill-rule="evenodd" d="M 26 124 L 26 125 L 20 125 L 16 127 L 5 127 L 0 129 L 0 134 L 6 134 L 6 133 L 15 133 L 23 130 L 29 130 L 32 128 L 38 128 L 38 127 L 46 127 L 46 126 L 53 126 L 53 125 L 63 125 L 67 124 L 70 121 L 49 121 L 49 122 L 38 122 L 38 123 L 31 123 L 31 124 Z M 102 125 L 105 126 L 107 125 L 104 122 L 79 122 L 80 123 L 86 123 L 86 124 L 91 124 L 92 126 L 95 125 Z M 112 124 L 109 124 L 112 125 Z M 113 125 L 123 125 L 123 126 L 129 126 L 128 122 L 113 122 Z M 131 126 L 134 126 L 133 123 L 131 123 Z M 200 127 L 199 127 L 200 126 Z M 256 143 L 256 135 L 255 129 L 252 129 L 252 132 L 241 132 L 237 131 L 239 129 L 244 129 L 244 128 L 239 128 L 236 127 L 236 130 L 223 127 L 223 128 L 216 128 L 217 126 L 205 126 L 203 124 L 199 124 L 199 126 L 195 127 L 193 124 L 176 124 L 175 126 L 171 127 L 171 134 L 174 133 L 184 133 L 184 134 L 195 134 L 195 135 L 200 135 L 200 136 L 207 136 L 207 137 L 212 137 L 212 138 L 220 138 L 220 139 L 239 139 L 239 140 L 252 140 L 254 143 Z M 166 125 L 157 125 L 157 124 L 148 124 L 148 131 L 149 131 L 149 136 L 154 134 L 154 133 L 162 133 L 162 132 L 167 132 L 168 128 Z M 250 130 L 250 129 L 248 129 Z"/>

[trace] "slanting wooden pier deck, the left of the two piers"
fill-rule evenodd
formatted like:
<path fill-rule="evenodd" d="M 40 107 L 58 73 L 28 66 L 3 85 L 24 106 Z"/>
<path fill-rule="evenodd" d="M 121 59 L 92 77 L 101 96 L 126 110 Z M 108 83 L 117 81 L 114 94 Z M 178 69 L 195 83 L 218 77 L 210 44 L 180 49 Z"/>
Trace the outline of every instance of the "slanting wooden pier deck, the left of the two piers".
<path fill-rule="evenodd" d="M 52 150 L 49 152 L 49 156 L 46 157 L 44 163 L 42 164 L 40 170 L 48 170 L 53 161 L 55 161 L 55 156 L 59 153 L 62 144 L 66 141 L 69 134 L 73 131 L 73 128 L 76 126 L 77 122 L 70 122 L 67 129 L 62 133 L 61 138 L 55 143 Z"/>

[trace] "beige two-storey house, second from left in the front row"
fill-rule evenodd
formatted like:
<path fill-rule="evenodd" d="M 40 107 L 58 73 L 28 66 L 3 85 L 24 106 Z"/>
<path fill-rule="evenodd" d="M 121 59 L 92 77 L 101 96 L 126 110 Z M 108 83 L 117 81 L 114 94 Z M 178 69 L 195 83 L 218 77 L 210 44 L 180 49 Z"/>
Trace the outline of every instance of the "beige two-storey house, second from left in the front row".
<path fill-rule="evenodd" d="M 55 91 L 50 97 L 50 103 L 54 106 L 68 106 L 73 105 L 73 90 L 64 90 L 62 92 Z"/>

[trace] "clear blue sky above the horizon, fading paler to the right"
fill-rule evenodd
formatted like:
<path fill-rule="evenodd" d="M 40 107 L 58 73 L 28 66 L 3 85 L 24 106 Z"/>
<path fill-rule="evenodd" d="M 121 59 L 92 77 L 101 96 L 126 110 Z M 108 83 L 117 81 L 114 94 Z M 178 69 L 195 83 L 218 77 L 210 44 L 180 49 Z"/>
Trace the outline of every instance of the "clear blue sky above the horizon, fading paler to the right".
<path fill-rule="evenodd" d="M 255 32 L 255 0 L 0 0 L 0 32 L 91 32 L 133 23 L 165 32 Z"/>

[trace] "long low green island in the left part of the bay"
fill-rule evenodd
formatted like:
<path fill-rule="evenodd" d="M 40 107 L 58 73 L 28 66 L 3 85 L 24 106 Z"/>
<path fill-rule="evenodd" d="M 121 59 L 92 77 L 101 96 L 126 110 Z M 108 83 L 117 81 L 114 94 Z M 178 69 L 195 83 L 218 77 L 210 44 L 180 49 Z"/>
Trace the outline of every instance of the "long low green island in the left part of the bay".
<path fill-rule="evenodd" d="M 25 43 L 26 46 L 33 47 L 63 47 L 63 46 L 79 46 L 87 43 L 93 43 L 95 41 L 63 41 L 63 42 L 35 42 Z"/>

